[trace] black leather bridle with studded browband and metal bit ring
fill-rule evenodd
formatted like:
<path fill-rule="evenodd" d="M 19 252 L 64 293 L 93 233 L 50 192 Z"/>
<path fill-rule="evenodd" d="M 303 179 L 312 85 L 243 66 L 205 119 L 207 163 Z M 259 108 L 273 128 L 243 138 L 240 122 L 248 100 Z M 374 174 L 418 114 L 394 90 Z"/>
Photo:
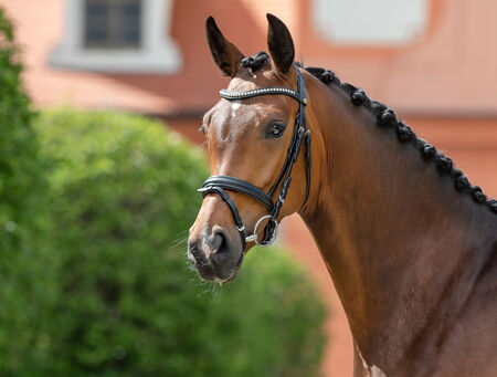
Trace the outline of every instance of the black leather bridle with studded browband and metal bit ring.
<path fill-rule="evenodd" d="M 269 189 L 269 192 L 266 193 L 262 189 L 248 184 L 247 181 L 229 176 L 209 177 L 203 182 L 202 188 L 199 189 L 199 191 L 202 192 L 203 197 L 205 197 L 205 195 L 208 193 L 216 193 L 228 205 L 231 214 L 233 216 L 236 229 L 239 230 L 240 238 L 242 240 L 243 252 L 245 251 L 247 242 L 255 242 L 258 245 L 267 247 L 271 243 L 273 243 L 273 241 L 276 239 L 278 230 L 277 218 L 279 216 L 279 211 L 282 209 L 283 203 L 285 202 L 285 198 L 288 192 L 288 188 L 292 181 L 292 169 L 294 168 L 294 165 L 297 161 L 298 153 L 300 151 L 303 140 L 305 140 L 306 147 L 307 184 L 306 184 L 306 197 L 304 199 L 304 203 L 302 205 L 302 207 L 304 207 L 304 205 L 307 202 L 307 198 L 309 197 L 310 130 L 309 127 L 307 126 L 305 113 L 305 106 L 307 105 L 306 86 L 302 73 L 297 66 L 296 71 L 297 71 L 297 92 L 288 87 L 278 87 L 278 86 L 262 87 L 243 92 L 228 92 L 225 90 L 220 91 L 221 97 L 228 101 L 245 100 L 269 94 L 282 94 L 298 101 L 299 106 L 297 116 L 295 118 L 294 133 L 292 136 L 290 145 L 288 147 L 288 151 L 286 154 L 285 163 L 283 164 L 282 170 L 279 171 L 276 181 Z M 282 188 L 279 189 L 279 195 L 277 197 L 276 202 L 273 202 L 273 196 L 276 189 L 279 187 L 279 185 L 282 185 Z M 257 220 L 254 227 L 254 232 L 251 235 L 245 235 L 245 226 L 243 224 L 239 210 L 225 190 L 242 192 L 267 208 L 269 214 L 263 216 L 261 219 Z M 268 219 L 268 222 L 264 228 L 264 238 L 258 242 L 257 229 L 260 224 L 266 219 Z"/>

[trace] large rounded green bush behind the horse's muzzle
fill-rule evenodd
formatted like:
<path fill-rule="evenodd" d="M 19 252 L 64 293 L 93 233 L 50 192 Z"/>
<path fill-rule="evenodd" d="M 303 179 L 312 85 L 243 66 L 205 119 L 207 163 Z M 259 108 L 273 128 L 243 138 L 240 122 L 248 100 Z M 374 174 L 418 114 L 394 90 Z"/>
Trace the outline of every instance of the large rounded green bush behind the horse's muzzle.
<path fill-rule="evenodd" d="M 317 374 L 324 306 L 283 252 L 252 251 L 222 287 L 188 269 L 199 150 L 137 116 L 47 112 L 36 129 L 53 211 L 38 270 L 56 286 L 32 292 L 17 336 L 10 296 L 1 376 Z"/>

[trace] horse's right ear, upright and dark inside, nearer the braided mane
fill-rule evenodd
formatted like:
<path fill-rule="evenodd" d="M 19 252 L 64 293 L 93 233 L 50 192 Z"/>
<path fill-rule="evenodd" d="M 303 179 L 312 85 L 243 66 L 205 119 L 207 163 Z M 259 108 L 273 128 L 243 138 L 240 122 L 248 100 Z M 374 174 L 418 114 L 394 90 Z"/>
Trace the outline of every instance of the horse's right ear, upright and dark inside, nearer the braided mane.
<path fill-rule="evenodd" d="M 267 46 L 269 48 L 271 57 L 276 70 L 279 73 L 287 73 L 294 63 L 295 50 L 294 41 L 288 28 L 277 17 L 267 13 Z"/>

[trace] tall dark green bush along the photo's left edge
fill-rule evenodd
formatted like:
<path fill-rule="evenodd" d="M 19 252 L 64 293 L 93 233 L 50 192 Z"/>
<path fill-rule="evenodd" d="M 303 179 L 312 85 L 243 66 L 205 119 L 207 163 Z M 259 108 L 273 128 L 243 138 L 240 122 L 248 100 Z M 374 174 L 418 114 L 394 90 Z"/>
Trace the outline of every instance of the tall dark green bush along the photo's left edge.
<path fill-rule="evenodd" d="M 56 297 L 53 270 L 45 269 L 51 263 L 45 166 L 21 73 L 13 27 L 0 7 L 1 376 L 14 375 L 27 350 L 39 355 L 45 308 Z"/>

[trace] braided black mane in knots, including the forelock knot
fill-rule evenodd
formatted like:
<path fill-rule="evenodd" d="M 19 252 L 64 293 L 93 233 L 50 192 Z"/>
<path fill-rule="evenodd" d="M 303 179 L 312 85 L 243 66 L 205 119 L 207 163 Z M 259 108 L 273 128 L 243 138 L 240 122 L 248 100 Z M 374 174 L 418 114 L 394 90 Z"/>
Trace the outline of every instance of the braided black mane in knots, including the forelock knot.
<path fill-rule="evenodd" d="M 265 52 L 258 52 L 254 56 L 248 56 L 242 60 L 242 66 L 250 69 L 253 73 L 261 70 L 269 62 L 269 55 Z M 497 213 L 497 200 L 487 198 L 482 191 L 482 188 L 472 185 L 466 176 L 458 168 L 448 156 L 430 145 L 427 142 L 419 138 L 416 134 L 405 123 L 398 121 L 393 109 L 378 101 L 372 101 L 368 97 L 366 92 L 349 83 L 341 83 L 340 80 L 330 70 L 321 67 L 307 66 L 304 67 L 302 63 L 296 63 L 309 72 L 313 76 L 318 78 L 325 85 L 337 85 L 349 97 L 355 106 L 362 106 L 369 109 L 377 119 L 377 126 L 385 129 L 393 129 L 400 143 L 411 144 L 420 151 L 421 157 L 427 161 L 433 163 L 441 175 L 447 175 L 454 182 L 454 188 L 462 192 L 469 195 L 478 205 L 485 205 L 494 213 Z"/>

